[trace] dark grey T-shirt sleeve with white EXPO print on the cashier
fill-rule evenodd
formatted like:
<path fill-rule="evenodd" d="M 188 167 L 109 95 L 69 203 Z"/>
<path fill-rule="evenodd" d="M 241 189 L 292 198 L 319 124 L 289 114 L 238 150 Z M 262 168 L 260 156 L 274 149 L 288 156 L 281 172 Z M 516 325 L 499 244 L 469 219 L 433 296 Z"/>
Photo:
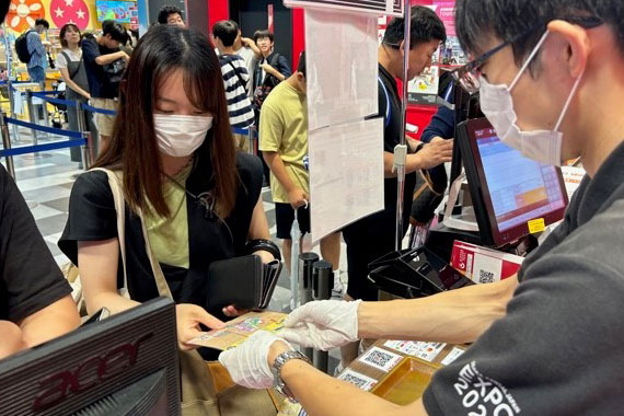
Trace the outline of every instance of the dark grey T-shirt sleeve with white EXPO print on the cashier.
<path fill-rule="evenodd" d="M 506 317 L 434 377 L 429 415 L 622 414 L 624 234 L 613 227 L 590 222 L 525 269 Z"/>

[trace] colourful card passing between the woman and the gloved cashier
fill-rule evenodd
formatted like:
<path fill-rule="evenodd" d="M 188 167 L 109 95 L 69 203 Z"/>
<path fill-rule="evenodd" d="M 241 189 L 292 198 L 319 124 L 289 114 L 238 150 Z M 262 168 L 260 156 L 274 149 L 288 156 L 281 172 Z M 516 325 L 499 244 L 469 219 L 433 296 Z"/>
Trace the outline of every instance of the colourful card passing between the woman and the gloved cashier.
<path fill-rule="evenodd" d="M 250 312 L 227 323 L 222 330 L 201 333 L 188 344 L 227 350 L 238 347 L 256 331 L 278 333 L 284 327 L 286 313 Z"/>

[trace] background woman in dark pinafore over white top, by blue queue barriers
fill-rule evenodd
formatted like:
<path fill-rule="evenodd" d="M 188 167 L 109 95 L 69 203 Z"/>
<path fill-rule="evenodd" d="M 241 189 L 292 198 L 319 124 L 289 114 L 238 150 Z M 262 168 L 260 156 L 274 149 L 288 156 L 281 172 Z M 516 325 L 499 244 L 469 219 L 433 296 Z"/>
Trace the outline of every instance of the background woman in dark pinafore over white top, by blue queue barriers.
<path fill-rule="evenodd" d="M 86 103 L 91 95 L 89 94 L 89 81 L 86 80 L 86 70 L 82 61 L 82 49 L 80 48 L 80 41 L 82 35 L 80 30 L 73 23 L 68 23 L 60 28 L 60 44 L 62 50 L 56 57 L 56 67 L 60 70 L 60 77 L 67 85 L 65 97 L 69 101 L 80 101 Z M 78 112 L 76 108 L 67 108 L 67 117 L 69 122 L 69 129 L 72 131 L 79 130 Z M 91 116 L 85 113 L 84 126 L 89 130 L 92 129 Z M 80 148 L 73 147 L 69 149 L 72 162 L 80 162 L 82 167 L 82 158 Z"/>

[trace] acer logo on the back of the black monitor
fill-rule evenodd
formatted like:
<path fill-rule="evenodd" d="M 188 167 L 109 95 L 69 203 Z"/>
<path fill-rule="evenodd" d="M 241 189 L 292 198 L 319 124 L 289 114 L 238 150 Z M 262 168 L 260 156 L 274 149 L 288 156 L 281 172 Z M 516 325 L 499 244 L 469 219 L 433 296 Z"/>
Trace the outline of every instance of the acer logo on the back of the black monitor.
<path fill-rule="evenodd" d="M 55 406 L 71 394 L 82 393 L 132 367 L 139 356 L 139 346 L 153 335 L 146 334 L 134 343 L 119 345 L 86 358 L 74 368 L 46 377 L 39 381 L 39 393 L 33 403 L 33 412 Z"/>

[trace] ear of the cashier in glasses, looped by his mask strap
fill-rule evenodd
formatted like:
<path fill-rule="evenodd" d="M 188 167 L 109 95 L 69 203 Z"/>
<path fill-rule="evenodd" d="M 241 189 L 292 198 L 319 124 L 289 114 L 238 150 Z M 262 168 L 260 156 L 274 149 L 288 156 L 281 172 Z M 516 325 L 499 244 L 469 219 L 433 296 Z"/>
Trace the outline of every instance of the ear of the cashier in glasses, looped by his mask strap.
<path fill-rule="evenodd" d="M 548 24 L 548 31 L 559 36 L 567 45 L 566 50 L 564 50 L 564 60 L 567 63 L 569 74 L 573 78 L 580 77 L 587 66 L 591 49 L 587 30 L 569 22 L 556 20 Z"/>

